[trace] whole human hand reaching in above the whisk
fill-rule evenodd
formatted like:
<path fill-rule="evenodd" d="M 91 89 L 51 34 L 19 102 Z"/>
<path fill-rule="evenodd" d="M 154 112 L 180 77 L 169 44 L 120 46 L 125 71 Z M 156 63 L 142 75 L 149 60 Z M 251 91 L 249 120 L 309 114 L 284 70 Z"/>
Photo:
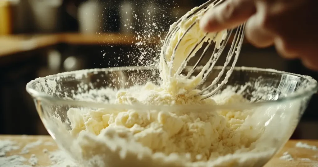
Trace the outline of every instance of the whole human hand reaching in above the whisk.
<path fill-rule="evenodd" d="M 285 58 L 299 58 L 318 70 L 317 0 L 226 0 L 200 20 L 206 32 L 235 28 L 246 21 L 245 36 L 256 47 L 275 45 Z"/>

